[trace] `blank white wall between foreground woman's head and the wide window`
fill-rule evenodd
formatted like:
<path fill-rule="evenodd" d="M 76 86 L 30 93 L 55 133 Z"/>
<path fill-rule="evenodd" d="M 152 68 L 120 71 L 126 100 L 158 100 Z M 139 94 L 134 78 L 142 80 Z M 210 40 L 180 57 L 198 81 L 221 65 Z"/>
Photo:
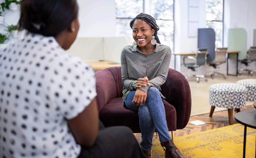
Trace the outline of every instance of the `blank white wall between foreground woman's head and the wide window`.
<path fill-rule="evenodd" d="M 78 37 L 116 36 L 115 0 L 77 0 L 80 30 Z"/>

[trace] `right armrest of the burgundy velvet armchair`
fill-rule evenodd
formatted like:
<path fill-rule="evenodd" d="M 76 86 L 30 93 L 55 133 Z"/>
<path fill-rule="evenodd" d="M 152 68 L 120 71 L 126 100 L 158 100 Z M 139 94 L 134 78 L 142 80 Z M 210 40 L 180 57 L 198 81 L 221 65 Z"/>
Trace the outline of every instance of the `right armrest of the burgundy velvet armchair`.
<path fill-rule="evenodd" d="M 169 68 L 166 82 L 161 89 L 161 93 L 166 97 L 165 100 L 176 109 L 177 129 L 184 128 L 191 113 L 191 91 L 185 76 Z"/>

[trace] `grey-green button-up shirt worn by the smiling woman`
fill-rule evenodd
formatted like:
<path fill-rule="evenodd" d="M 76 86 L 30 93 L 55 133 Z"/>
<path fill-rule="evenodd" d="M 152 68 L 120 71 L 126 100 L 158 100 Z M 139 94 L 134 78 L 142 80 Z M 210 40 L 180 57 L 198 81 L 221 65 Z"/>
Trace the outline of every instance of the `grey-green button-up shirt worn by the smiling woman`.
<path fill-rule="evenodd" d="M 160 92 L 160 86 L 166 81 L 170 65 L 172 50 L 163 44 L 156 44 L 156 48 L 145 55 L 137 46 L 125 46 L 121 52 L 121 70 L 123 84 L 123 99 L 130 91 L 137 90 L 138 78 L 147 76 L 150 86 L 139 89 L 147 93 L 148 88 L 156 87 Z M 162 95 L 162 98 L 165 99 Z"/>

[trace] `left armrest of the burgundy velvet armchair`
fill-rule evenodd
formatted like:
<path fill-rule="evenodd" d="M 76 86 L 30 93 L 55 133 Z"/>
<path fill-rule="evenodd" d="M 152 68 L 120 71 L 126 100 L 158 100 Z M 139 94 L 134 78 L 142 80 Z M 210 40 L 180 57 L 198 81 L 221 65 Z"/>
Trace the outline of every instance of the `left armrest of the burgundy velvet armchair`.
<path fill-rule="evenodd" d="M 117 86 L 113 74 L 108 69 L 102 69 L 95 73 L 96 100 L 99 112 L 110 100 L 117 96 Z"/>

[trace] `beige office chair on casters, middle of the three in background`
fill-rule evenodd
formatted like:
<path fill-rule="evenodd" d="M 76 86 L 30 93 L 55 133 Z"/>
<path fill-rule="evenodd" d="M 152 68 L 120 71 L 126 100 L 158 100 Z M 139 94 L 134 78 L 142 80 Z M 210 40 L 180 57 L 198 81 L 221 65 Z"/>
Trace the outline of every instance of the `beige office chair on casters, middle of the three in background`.
<path fill-rule="evenodd" d="M 216 73 L 222 75 L 226 79 L 226 76 L 223 73 L 217 72 L 217 67 L 227 61 L 226 54 L 227 48 L 217 48 L 215 51 L 215 59 L 209 63 L 210 66 L 214 67 L 214 72 L 208 73 L 212 79 L 214 79 Z"/>

